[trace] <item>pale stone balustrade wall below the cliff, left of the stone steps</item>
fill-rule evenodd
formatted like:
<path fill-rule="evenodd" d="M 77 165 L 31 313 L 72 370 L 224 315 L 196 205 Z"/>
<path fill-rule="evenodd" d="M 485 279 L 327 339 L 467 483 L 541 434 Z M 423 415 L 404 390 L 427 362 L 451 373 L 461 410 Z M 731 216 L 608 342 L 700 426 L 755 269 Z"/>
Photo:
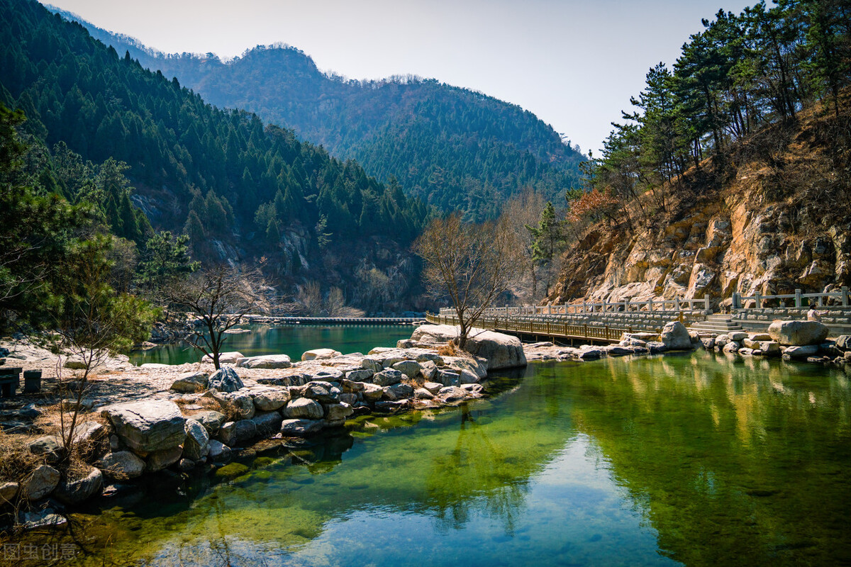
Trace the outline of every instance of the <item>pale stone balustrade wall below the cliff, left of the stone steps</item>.
<path fill-rule="evenodd" d="M 709 298 L 703 299 L 648 299 L 647 301 L 620 301 L 602 303 L 563 303 L 559 305 L 522 305 L 519 307 L 489 307 L 484 310 L 484 316 L 491 318 L 504 318 L 512 315 L 580 315 L 598 313 L 619 312 L 697 312 L 705 315 L 711 314 Z M 453 315 L 454 309 L 444 307 L 440 309 L 439 315 Z"/>

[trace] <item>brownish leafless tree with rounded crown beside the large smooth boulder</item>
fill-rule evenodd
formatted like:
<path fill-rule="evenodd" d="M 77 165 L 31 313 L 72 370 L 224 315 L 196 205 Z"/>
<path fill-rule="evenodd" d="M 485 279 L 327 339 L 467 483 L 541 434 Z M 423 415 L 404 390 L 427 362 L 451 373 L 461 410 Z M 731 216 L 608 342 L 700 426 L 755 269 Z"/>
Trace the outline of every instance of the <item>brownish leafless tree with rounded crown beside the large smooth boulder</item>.
<path fill-rule="evenodd" d="M 520 244 L 505 222 L 464 224 L 454 214 L 436 218 L 414 242 L 425 262 L 423 278 L 436 295 L 447 295 L 458 316 L 458 346 L 484 310 L 505 292 L 521 269 Z"/>

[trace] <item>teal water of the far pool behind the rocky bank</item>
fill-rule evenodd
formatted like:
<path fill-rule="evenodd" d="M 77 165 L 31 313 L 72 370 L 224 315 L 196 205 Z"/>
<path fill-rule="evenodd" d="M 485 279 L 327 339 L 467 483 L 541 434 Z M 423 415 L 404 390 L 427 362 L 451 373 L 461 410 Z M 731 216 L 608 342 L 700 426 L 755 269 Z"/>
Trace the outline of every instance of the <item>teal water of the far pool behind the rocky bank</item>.
<path fill-rule="evenodd" d="M 228 335 L 225 351 L 236 350 L 246 356 L 288 354 L 292 360 L 301 360 L 301 354 L 310 349 L 367 353 L 374 347 L 393 346 L 399 339 L 410 338 L 414 330 L 409 325 L 244 325 L 240 328 L 250 332 Z M 130 353 L 130 361 L 137 366 L 147 362 L 183 364 L 198 360 L 201 354 L 185 343 Z"/>

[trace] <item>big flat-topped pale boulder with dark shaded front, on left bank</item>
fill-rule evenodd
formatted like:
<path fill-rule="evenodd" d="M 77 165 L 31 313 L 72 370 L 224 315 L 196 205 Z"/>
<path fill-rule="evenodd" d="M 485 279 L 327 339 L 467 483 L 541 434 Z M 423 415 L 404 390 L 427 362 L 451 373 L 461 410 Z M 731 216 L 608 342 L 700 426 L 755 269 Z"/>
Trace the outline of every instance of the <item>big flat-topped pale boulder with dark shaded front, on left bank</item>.
<path fill-rule="evenodd" d="M 186 419 L 173 401 L 146 400 L 104 410 L 118 437 L 137 453 L 171 449 L 186 439 Z"/>

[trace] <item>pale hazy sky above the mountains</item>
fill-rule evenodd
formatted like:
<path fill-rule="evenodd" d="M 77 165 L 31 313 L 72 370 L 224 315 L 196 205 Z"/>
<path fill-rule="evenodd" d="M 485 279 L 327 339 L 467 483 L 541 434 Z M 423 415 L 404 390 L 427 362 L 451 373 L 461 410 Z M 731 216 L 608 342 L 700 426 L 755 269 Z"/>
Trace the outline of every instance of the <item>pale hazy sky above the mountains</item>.
<path fill-rule="evenodd" d="M 434 77 L 534 112 L 583 152 L 597 150 L 701 18 L 740 0 L 49 0 L 168 53 L 242 54 L 283 42 L 323 71 Z"/>

